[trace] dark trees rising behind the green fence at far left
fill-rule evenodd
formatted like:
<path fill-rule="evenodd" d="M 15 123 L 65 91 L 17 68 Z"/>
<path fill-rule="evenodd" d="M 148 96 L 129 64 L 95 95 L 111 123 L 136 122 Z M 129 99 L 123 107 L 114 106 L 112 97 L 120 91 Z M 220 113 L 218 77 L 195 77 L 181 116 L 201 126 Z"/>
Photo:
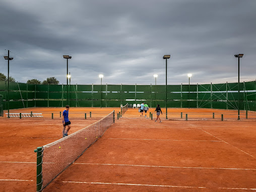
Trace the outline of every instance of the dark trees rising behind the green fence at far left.
<path fill-rule="evenodd" d="M 0 73 L 0 81 L 8 81 L 8 77 L 5 76 L 5 74 Z M 15 82 L 15 79 L 13 77 L 9 77 L 9 82 Z M 43 82 L 37 80 L 37 79 L 30 79 L 27 81 L 27 84 L 37 84 L 37 85 L 58 85 L 59 81 L 55 77 L 48 77 Z"/>

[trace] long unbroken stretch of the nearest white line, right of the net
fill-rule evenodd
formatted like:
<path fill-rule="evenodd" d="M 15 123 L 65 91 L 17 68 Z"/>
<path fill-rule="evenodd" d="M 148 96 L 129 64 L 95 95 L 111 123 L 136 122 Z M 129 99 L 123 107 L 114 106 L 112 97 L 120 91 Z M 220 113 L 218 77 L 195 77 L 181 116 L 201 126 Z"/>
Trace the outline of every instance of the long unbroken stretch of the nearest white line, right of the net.
<path fill-rule="evenodd" d="M 164 187 L 182 187 L 182 188 L 207 188 L 204 186 L 175 186 L 175 185 L 158 185 L 158 184 L 134 184 L 134 183 L 109 183 L 109 182 L 82 182 L 82 181 L 62 181 L 68 183 L 88 183 L 88 184 L 115 184 L 115 185 L 135 185 L 135 186 L 164 186 Z"/>

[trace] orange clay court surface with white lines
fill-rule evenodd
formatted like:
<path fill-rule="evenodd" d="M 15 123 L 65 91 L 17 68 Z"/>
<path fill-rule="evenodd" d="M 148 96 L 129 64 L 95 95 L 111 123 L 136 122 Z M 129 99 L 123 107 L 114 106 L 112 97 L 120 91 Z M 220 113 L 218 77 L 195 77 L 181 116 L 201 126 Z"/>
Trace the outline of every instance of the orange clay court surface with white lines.
<path fill-rule="evenodd" d="M 62 137 L 59 111 L 63 109 L 16 109 L 10 113 L 32 111 L 43 117 L 0 117 L 0 191 L 36 191 L 34 149 Z M 120 108 L 71 107 L 69 135 L 113 110 L 115 123 L 43 191 L 256 189 L 254 112 L 245 119 L 240 111 L 241 120 L 237 120 L 234 110 L 170 108 L 169 120 L 163 114 L 160 123 L 155 122 L 154 109 L 149 110 L 153 120 L 149 112 L 142 117 L 132 108 L 117 120 Z"/>

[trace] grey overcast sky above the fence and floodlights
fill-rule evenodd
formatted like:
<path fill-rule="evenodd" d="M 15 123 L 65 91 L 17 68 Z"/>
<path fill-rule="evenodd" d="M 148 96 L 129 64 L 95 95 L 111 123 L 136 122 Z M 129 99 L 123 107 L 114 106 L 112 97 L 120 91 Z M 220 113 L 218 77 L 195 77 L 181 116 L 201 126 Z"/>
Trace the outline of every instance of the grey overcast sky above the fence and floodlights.
<path fill-rule="evenodd" d="M 0 0 L 0 73 L 26 83 L 222 83 L 256 79 L 255 0 Z"/>

